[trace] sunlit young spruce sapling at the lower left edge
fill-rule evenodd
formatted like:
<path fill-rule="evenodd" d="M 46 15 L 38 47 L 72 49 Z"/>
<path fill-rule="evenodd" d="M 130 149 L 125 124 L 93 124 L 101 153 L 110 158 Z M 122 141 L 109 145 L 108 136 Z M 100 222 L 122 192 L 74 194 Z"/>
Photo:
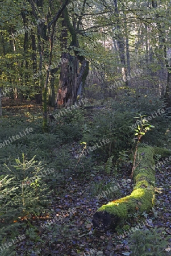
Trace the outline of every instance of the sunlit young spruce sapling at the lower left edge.
<path fill-rule="evenodd" d="M 0 241 L 1 244 L 10 242 L 19 235 L 24 218 L 39 215 L 48 204 L 48 195 L 51 193 L 45 178 L 41 175 L 44 165 L 31 159 L 22 161 L 15 159 L 16 164 L 4 164 L 0 177 Z M 33 181 L 31 180 L 32 178 Z M 3 250 L 3 255 L 13 254 L 16 245 Z M 13 253 L 12 253 L 13 251 Z"/>

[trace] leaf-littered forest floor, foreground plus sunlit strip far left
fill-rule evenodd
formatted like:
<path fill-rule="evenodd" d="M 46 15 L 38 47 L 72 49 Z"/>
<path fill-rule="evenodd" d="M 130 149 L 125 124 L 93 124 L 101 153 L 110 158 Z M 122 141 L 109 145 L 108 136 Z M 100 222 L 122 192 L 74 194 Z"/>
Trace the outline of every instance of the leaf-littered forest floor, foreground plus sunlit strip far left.
<path fill-rule="evenodd" d="M 41 106 L 34 102 L 17 102 L 14 106 L 12 101 L 3 101 L 3 109 L 14 114 L 16 112 L 22 114 L 23 109 L 26 108 L 32 112 L 41 112 Z M 51 111 L 52 109 L 49 108 L 48 112 L 51 113 Z M 83 176 L 68 175 L 65 170 L 65 182 L 59 184 L 54 195 L 49 198 L 51 203 L 47 216 L 43 214 L 33 217 L 24 228 L 20 229 L 20 234 L 26 235 L 28 228 L 32 233 L 27 233 L 26 240 L 18 243 L 16 255 L 132 255 L 130 236 L 134 233 L 134 229 L 131 230 L 131 228 L 135 226 L 141 230 L 152 232 L 156 230 L 160 233 L 161 239 L 165 240 L 171 234 L 170 170 L 171 166 L 162 166 L 156 170 L 156 203 L 153 210 L 148 214 L 144 213 L 144 217 L 137 210 L 134 216 L 130 216 L 124 228 L 119 228 L 117 232 L 112 229 L 107 231 L 94 229 L 93 214 L 102 204 L 132 192 L 134 185 L 124 182 L 124 180 L 130 180 L 131 170 L 122 168 L 122 172 L 115 175 L 92 171 Z M 112 196 L 111 193 L 102 195 L 102 190 L 98 193 L 98 186 L 95 187 L 95 184 L 102 181 L 103 184 L 114 181 L 114 185 L 118 184 L 119 189 Z M 102 195 L 101 199 L 98 199 L 99 195 Z M 52 223 L 50 220 L 55 221 Z M 47 225 L 43 226 L 44 224 Z M 119 237 L 120 235 L 122 238 Z M 149 254 L 145 255 L 160 255 L 151 254 L 152 252 L 150 247 Z M 164 249 L 164 253 L 163 255 L 170 255 L 171 240 L 169 240 L 169 246 Z"/>

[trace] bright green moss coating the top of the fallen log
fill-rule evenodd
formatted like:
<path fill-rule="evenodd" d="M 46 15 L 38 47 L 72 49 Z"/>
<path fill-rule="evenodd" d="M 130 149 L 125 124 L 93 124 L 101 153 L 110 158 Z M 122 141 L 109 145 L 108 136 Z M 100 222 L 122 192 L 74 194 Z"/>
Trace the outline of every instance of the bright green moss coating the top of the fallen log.
<path fill-rule="evenodd" d="M 123 219 L 128 217 L 128 213 L 134 213 L 136 210 L 141 213 L 144 210 L 148 212 L 152 208 L 155 193 L 155 171 L 151 166 L 155 164 L 153 160 L 155 150 L 153 147 L 140 147 L 138 154 L 137 163 L 141 160 L 134 172 L 134 191 L 129 196 L 102 205 L 98 212 L 105 211 Z"/>

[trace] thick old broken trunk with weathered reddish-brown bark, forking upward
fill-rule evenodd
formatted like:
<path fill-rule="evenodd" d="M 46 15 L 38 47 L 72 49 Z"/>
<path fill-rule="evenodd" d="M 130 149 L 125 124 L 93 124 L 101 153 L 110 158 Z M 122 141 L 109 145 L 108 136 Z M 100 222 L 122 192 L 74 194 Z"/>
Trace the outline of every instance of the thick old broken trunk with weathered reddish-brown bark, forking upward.
<path fill-rule="evenodd" d="M 61 48 L 64 52 L 67 49 L 66 42 L 66 27 L 68 28 L 70 35 L 72 36 L 72 42 L 70 43 L 70 48 L 74 48 L 75 56 L 69 53 L 62 53 L 61 55 L 61 71 L 60 71 L 60 81 L 59 90 L 57 92 L 56 105 L 72 105 L 77 100 L 77 96 L 80 95 L 80 100 L 85 86 L 86 77 L 89 73 L 89 63 L 85 60 L 83 56 L 80 56 L 80 52 L 76 49 L 79 47 L 77 40 L 77 33 L 80 28 L 81 18 L 84 14 L 86 0 L 83 3 L 81 15 L 78 19 L 77 25 L 72 24 L 69 19 L 68 9 L 65 7 L 62 16 L 64 20 L 62 21 L 62 35 L 61 35 Z M 67 60 L 67 61 L 63 61 Z M 79 62 L 81 68 L 79 67 Z"/>

